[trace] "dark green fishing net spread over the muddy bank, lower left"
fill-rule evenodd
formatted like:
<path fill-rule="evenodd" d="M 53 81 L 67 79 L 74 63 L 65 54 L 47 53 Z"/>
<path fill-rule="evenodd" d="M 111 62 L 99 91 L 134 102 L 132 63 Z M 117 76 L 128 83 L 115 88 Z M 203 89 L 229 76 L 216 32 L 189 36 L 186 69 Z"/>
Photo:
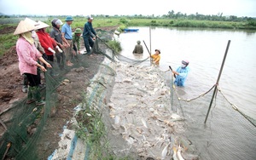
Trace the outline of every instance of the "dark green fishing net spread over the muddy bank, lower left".
<path fill-rule="evenodd" d="M 100 30 L 97 33 L 104 38 L 96 40 L 91 57 L 73 55 L 73 66 L 62 69 L 55 61 L 51 63 L 52 69 L 41 73 L 44 85 L 40 92 L 45 100 L 44 106 L 27 105 L 25 99 L 1 112 L 1 124 L 5 129 L 0 138 L 1 159 L 46 159 L 58 147 L 59 134 L 69 117 L 73 117 L 73 108 L 84 101 L 92 103 L 90 97 L 99 92 L 95 89 L 90 96 L 87 95 L 90 83 L 104 83 L 104 78 L 114 77 L 109 64 L 116 60 L 115 53 L 107 46 L 108 41 L 112 41 L 113 31 Z M 108 63 L 102 63 L 105 57 Z M 102 79 L 93 81 L 97 72 Z M 55 141 L 55 145 L 51 141 Z"/>

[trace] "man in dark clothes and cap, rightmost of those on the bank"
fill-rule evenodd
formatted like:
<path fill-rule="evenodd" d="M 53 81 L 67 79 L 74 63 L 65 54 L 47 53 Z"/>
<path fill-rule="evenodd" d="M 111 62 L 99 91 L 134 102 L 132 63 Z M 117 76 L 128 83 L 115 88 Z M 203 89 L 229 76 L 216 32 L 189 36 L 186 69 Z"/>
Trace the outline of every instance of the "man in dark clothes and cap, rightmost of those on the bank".
<path fill-rule="evenodd" d="M 84 24 L 83 38 L 84 38 L 84 46 L 87 51 L 87 54 L 91 55 L 90 48 L 93 48 L 94 40 L 96 40 L 96 31 L 94 31 L 92 27 L 91 16 L 87 17 L 87 22 Z"/>

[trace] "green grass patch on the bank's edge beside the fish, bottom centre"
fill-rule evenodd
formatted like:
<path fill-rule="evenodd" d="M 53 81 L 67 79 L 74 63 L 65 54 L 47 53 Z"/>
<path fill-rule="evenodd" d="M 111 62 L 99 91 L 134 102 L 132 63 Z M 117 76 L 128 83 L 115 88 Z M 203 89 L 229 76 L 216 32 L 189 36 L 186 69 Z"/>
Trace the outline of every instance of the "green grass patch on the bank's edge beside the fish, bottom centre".
<path fill-rule="evenodd" d="M 99 90 L 96 94 L 101 94 Z M 98 108 L 90 106 L 89 99 L 84 96 L 84 110 L 76 116 L 79 129 L 76 129 L 78 137 L 86 144 L 87 159 L 128 160 L 131 157 L 116 157 L 109 148 L 106 127 L 102 121 L 102 112 Z"/>

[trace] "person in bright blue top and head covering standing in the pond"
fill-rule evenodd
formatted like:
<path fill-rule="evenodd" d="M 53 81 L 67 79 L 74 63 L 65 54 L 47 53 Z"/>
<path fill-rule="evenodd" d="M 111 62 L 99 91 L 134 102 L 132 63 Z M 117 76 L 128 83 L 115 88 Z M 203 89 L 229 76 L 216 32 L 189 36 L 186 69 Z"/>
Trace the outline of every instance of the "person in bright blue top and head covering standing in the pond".
<path fill-rule="evenodd" d="M 188 60 L 182 60 L 182 65 L 177 68 L 176 71 L 172 71 L 174 75 L 176 75 L 176 79 L 174 81 L 174 84 L 177 86 L 184 86 L 184 83 L 188 77 L 189 73 L 189 61 Z"/>

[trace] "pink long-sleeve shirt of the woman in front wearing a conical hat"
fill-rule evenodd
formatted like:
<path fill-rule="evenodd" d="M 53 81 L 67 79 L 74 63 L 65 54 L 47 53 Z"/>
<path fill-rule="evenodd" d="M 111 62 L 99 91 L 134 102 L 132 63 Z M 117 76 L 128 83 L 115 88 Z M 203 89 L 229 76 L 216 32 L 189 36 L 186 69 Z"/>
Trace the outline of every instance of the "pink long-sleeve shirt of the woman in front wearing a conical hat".
<path fill-rule="evenodd" d="M 20 37 L 16 43 L 19 57 L 20 74 L 30 73 L 37 75 L 37 60 L 42 56 L 34 44 L 28 43 L 24 37 Z"/>

